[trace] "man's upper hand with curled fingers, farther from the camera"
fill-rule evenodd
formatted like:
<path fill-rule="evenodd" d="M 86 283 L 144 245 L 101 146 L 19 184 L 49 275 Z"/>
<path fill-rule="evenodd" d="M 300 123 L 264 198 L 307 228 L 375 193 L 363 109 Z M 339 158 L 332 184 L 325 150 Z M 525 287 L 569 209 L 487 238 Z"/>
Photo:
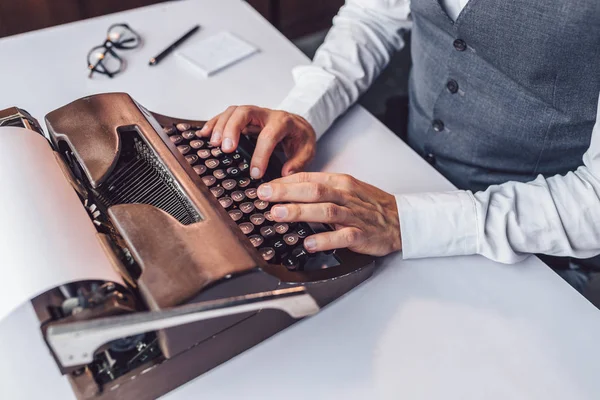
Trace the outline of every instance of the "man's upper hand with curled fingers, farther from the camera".
<path fill-rule="evenodd" d="M 299 115 L 284 111 L 231 106 L 208 121 L 200 132 L 202 136 L 211 136 L 210 143 L 221 146 L 225 153 L 237 148 L 240 134 L 259 133 L 250 163 L 253 178 L 262 178 L 279 142 L 288 157 L 281 171 L 283 176 L 302 171 L 315 156 L 316 135 L 312 126 Z"/>

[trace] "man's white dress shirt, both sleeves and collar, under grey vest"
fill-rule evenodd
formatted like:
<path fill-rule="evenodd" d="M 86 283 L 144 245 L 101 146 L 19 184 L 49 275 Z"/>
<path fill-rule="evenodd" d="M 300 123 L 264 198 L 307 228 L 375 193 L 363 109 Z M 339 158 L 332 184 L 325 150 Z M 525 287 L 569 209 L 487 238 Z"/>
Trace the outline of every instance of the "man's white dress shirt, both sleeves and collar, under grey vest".
<path fill-rule="evenodd" d="M 443 5 L 456 19 L 466 3 Z M 303 116 L 321 137 L 404 47 L 409 14 L 410 0 L 347 0 L 312 64 L 294 69 L 296 85 L 279 109 Z M 528 253 L 600 254 L 600 118 L 582 164 L 478 193 L 397 194 L 404 258 L 482 254 L 513 263 Z"/>

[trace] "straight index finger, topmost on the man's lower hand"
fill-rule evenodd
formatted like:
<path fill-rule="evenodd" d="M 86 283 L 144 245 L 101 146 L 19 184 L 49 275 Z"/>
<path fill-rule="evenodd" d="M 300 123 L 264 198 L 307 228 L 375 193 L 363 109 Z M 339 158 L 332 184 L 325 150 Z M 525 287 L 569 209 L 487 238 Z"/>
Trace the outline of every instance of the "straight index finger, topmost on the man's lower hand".
<path fill-rule="evenodd" d="M 261 200 L 271 202 L 344 203 L 343 194 L 325 183 L 276 183 L 271 181 L 260 185 L 257 194 Z"/>

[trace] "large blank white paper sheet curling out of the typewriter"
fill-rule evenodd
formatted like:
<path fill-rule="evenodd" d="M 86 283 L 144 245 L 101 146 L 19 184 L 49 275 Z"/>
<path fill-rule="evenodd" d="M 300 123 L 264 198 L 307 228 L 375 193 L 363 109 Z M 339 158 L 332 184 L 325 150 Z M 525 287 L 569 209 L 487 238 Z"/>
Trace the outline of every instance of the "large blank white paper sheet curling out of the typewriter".
<path fill-rule="evenodd" d="M 46 139 L 0 128 L 0 321 L 65 283 L 123 283 L 95 234 Z"/>

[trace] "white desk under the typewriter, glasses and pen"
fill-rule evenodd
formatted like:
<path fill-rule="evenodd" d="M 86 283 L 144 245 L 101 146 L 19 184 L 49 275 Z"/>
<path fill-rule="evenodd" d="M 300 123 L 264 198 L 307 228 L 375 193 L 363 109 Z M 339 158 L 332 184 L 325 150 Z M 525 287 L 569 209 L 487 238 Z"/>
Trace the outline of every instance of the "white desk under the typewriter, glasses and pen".
<path fill-rule="evenodd" d="M 113 22 L 146 46 L 126 72 L 89 80 L 85 56 Z M 261 53 L 210 79 L 177 57 L 148 59 L 195 23 L 235 32 Z M 238 0 L 158 5 L 0 40 L 0 108 L 39 119 L 81 96 L 126 91 L 163 114 L 208 118 L 230 104 L 275 106 L 306 58 Z M 358 162 L 364 149 L 377 164 Z M 315 169 L 354 174 L 390 192 L 451 185 L 361 108 L 319 143 Z M 0 183 L 1 184 L 1 183 Z M 35 244 L 32 244 L 35 246 Z M 171 392 L 168 399 L 597 399 L 600 313 L 535 258 L 382 260 L 378 273 L 320 314 Z M 10 284 L 10 282 L 4 282 Z M 72 398 L 29 306 L 2 325 L 0 398 Z M 15 388 L 8 372 L 29 374 Z"/>

